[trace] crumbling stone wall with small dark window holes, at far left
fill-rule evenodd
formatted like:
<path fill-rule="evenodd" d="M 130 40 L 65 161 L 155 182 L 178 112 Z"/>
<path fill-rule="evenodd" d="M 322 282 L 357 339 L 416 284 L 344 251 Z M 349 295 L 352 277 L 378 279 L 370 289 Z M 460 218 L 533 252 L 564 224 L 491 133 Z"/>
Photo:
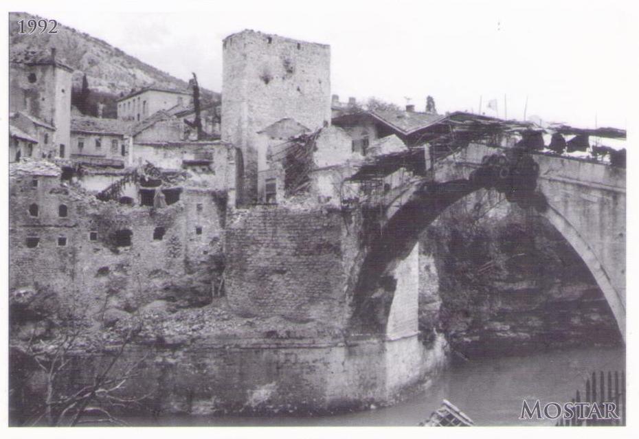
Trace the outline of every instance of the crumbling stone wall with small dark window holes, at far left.
<path fill-rule="evenodd" d="M 223 268 L 223 192 L 186 188 L 181 201 L 155 209 L 104 203 L 56 177 L 32 184 L 28 175 L 12 179 L 10 289 L 67 299 L 77 293 L 92 313 L 111 315 L 98 320 L 157 301 L 168 307 L 210 302 Z M 30 215 L 32 204 L 37 217 Z M 60 205 L 67 216 L 59 216 Z M 28 237 L 38 245 L 28 247 Z"/>

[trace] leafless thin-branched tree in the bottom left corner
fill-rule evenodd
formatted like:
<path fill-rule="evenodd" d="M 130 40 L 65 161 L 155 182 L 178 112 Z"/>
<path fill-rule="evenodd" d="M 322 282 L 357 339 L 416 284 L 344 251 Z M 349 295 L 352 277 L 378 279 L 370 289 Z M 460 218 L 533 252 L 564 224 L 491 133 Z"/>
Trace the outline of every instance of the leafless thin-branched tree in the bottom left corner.
<path fill-rule="evenodd" d="M 41 323 L 53 328 L 43 331 L 34 327 L 28 340 L 12 337 L 10 345 L 14 355 L 21 354 L 25 365 L 41 370 L 44 376 L 45 389 L 40 401 L 32 403 L 25 425 L 41 425 L 43 419 L 51 427 L 87 423 L 126 425 L 115 416 L 117 411 L 134 405 L 142 407 L 150 396 L 124 396 L 127 384 L 137 376 L 146 359 L 123 364 L 125 350 L 139 333 L 140 325 L 92 330 L 86 319 L 74 316 Z M 91 376 L 80 377 L 81 384 L 72 387 L 70 382 L 75 380 L 69 380 L 69 376 L 77 376 L 81 371 L 71 365 L 74 359 L 86 359 L 85 352 L 96 356 L 98 366 Z"/>

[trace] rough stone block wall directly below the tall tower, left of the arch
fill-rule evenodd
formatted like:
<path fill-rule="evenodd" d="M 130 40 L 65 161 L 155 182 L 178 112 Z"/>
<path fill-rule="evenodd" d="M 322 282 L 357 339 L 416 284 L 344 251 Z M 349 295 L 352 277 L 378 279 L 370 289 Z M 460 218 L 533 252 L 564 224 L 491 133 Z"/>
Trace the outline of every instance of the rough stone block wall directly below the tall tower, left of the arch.
<path fill-rule="evenodd" d="M 343 226 L 337 210 L 259 206 L 238 212 L 225 244 L 225 286 L 234 311 L 341 326 Z"/>

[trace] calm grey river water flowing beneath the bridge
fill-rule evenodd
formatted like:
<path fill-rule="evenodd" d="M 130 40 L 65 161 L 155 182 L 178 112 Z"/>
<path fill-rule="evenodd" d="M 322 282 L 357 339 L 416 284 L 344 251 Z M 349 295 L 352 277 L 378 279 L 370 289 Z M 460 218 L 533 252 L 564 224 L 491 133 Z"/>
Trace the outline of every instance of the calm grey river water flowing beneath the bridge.
<path fill-rule="evenodd" d="M 443 398 L 457 405 L 476 425 L 554 425 L 552 420 L 519 420 L 524 398 L 542 403 L 570 402 L 583 394 L 593 371 L 625 369 L 624 348 L 553 350 L 524 357 L 453 362 L 423 394 L 393 407 L 335 416 L 246 417 L 163 416 L 129 419 L 132 425 L 175 426 L 416 426 Z"/>

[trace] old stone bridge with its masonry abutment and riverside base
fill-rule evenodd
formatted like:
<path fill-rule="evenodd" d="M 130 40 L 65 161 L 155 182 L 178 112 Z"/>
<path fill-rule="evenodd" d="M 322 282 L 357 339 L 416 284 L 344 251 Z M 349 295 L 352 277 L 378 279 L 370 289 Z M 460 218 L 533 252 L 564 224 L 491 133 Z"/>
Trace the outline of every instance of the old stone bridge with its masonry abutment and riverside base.
<path fill-rule="evenodd" d="M 423 390 L 445 367 L 447 342 L 436 334 L 426 346 L 418 335 L 418 238 L 447 207 L 491 184 L 478 181 L 486 157 L 501 163 L 512 151 L 470 144 L 384 191 L 374 208 L 318 205 L 309 197 L 308 204 L 236 212 L 225 232 L 225 300 L 268 330 L 238 333 L 231 346 L 229 338 L 218 341 L 226 347 L 208 356 L 224 361 L 212 369 L 211 380 L 224 390 L 215 398 L 244 407 L 258 395 L 256 409 L 333 412 Z M 408 153 L 425 157 L 423 150 Z M 524 207 L 532 199 L 530 209 L 557 227 L 592 271 L 624 335 L 625 170 L 539 153 L 522 157 L 535 171 L 532 180 L 523 175 L 528 192 L 504 195 Z M 361 168 L 311 177 L 346 181 L 353 172 Z M 232 392 L 227 383 L 234 383 Z M 209 404 L 209 394 L 194 395 Z"/>

